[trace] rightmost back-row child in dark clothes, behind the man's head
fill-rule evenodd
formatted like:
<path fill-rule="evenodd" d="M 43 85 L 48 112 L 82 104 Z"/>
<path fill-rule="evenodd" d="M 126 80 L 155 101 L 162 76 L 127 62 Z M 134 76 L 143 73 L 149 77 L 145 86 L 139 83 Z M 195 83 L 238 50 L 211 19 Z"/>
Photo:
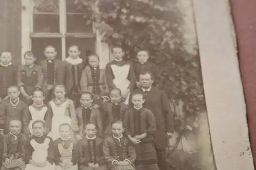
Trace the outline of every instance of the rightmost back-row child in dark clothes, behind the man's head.
<path fill-rule="evenodd" d="M 154 75 L 155 81 L 153 85 L 156 86 L 159 83 L 159 80 L 160 80 L 159 68 L 156 64 L 148 61 L 149 58 L 150 58 L 150 54 L 147 50 L 138 51 L 137 53 L 138 60 L 136 60 L 133 63 L 137 88 L 140 87 L 140 83 L 139 83 L 140 74 L 141 72 L 144 72 L 144 71 L 150 71 Z"/>

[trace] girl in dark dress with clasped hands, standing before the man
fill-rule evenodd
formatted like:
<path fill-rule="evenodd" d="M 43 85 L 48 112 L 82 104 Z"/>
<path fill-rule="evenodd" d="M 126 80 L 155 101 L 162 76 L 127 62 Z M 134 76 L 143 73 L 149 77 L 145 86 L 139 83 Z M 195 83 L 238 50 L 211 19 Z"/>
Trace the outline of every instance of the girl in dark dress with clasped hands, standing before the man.
<path fill-rule="evenodd" d="M 136 169 L 159 170 L 153 138 L 157 130 L 155 116 L 143 108 L 145 100 L 142 93 L 134 93 L 131 98 L 133 108 L 125 113 L 123 124 L 127 137 L 135 145 Z"/>

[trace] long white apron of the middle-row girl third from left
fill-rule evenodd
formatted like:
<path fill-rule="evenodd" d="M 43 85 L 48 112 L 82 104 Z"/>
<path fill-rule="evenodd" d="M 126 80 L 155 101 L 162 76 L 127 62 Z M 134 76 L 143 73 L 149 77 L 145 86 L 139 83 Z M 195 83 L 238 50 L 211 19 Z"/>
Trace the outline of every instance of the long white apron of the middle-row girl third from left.
<path fill-rule="evenodd" d="M 53 101 L 50 101 L 50 105 L 53 112 L 53 118 L 52 118 L 52 129 L 49 133 L 49 136 L 53 140 L 56 140 L 59 138 L 59 126 L 61 124 L 67 123 L 71 126 L 71 118 L 67 115 L 65 115 L 68 109 L 69 101 L 62 103 L 60 106 L 55 105 Z"/>

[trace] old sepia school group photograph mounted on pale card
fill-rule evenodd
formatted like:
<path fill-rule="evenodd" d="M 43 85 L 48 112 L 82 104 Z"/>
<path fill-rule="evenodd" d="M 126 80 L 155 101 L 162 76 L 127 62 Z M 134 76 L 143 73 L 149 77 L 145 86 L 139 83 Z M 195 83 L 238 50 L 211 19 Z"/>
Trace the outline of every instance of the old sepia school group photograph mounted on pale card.
<path fill-rule="evenodd" d="M 3 170 L 215 170 L 191 0 L 0 1 Z"/>

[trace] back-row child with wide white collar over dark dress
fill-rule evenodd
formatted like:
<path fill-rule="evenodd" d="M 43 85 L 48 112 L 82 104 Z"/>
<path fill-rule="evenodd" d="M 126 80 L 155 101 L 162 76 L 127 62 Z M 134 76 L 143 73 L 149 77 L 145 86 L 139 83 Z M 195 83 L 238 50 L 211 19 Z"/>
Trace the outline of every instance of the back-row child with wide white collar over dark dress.
<path fill-rule="evenodd" d="M 68 50 L 69 57 L 65 59 L 66 63 L 66 88 L 67 96 L 74 101 L 75 106 L 79 105 L 81 93 L 80 80 L 82 70 L 85 66 L 82 59 L 79 57 L 80 51 L 77 45 L 71 45 Z"/>

